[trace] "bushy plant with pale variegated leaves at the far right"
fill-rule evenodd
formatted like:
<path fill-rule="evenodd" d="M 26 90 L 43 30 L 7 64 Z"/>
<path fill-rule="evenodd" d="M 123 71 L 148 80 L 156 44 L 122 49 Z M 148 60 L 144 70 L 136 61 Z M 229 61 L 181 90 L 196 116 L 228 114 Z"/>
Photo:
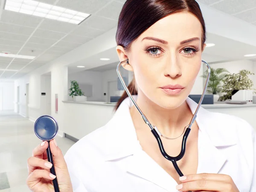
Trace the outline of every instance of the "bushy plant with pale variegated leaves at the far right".
<path fill-rule="evenodd" d="M 221 90 L 226 94 L 221 96 L 218 101 L 231 99 L 238 90 L 255 90 L 252 89 L 253 81 L 248 77 L 248 75 L 254 75 L 254 73 L 248 70 L 240 70 L 239 73 L 227 75 L 224 79 L 224 84 Z"/>

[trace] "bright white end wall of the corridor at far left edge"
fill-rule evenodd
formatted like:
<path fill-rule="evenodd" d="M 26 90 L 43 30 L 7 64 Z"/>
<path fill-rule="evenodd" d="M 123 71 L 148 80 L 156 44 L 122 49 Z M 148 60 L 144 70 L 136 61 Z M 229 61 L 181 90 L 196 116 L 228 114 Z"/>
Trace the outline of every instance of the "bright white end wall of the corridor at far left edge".
<path fill-rule="evenodd" d="M 2 100 L 0 101 L 3 110 L 14 110 L 14 82 L 0 82 Z"/>

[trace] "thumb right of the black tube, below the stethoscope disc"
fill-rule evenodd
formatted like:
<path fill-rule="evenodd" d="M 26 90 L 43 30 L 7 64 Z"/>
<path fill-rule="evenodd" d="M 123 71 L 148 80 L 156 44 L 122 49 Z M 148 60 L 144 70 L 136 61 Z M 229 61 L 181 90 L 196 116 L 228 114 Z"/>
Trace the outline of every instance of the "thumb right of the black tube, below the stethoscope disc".
<path fill-rule="evenodd" d="M 58 166 L 58 167 L 66 167 L 66 162 L 64 160 L 64 156 L 61 152 L 61 149 L 58 147 L 57 145 L 57 142 L 55 139 L 53 140 L 50 140 L 50 149 L 51 149 L 51 152 L 52 152 L 52 157 L 53 157 L 53 160 L 54 160 L 54 165 L 55 166 Z"/>

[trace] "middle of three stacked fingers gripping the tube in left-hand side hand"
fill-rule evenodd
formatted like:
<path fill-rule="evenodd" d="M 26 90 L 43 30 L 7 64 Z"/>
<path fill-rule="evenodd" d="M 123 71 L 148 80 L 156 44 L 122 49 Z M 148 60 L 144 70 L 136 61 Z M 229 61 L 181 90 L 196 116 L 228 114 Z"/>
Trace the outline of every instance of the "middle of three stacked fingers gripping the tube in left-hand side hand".
<path fill-rule="evenodd" d="M 31 174 L 37 167 L 41 167 L 43 169 L 50 169 L 52 168 L 52 163 L 40 159 L 38 157 L 29 157 L 28 159 L 28 170 L 29 174 Z"/>

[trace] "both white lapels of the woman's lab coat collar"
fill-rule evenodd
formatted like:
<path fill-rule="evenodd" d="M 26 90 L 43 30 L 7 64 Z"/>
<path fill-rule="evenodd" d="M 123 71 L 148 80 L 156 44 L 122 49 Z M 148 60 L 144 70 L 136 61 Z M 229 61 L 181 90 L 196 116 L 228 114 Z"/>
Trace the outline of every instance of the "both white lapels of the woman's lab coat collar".
<path fill-rule="evenodd" d="M 134 99 L 137 97 L 134 96 Z M 187 98 L 186 102 L 194 113 L 198 104 L 190 98 Z M 149 180 L 167 191 L 173 191 L 173 187 L 177 185 L 176 181 L 142 150 L 137 140 L 129 110 L 131 106 L 132 102 L 126 98 L 106 125 L 110 137 L 106 136 L 105 138 L 107 140 L 104 146 L 105 161 L 123 160 L 124 157 L 128 157 L 129 160 L 125 161 L 127 172 Z M 236 136 L 229 127 L 223 125 L 224 122 L 216 122 L 214 113 L 204 108 L 199 109 L 196 122 L 199 127 L 197 173 L 218 173 L 227 160 L 219 147 L 225 148 L 235 145 L 236 140 L 234 138 Z M 216 126 L 221 126 L 221 128 Z M 227 130 L 225 130 L 226 128 Z M 230 137 L 221 138 L 222 131 L 230 131 Z M 159 177 L 160 175 L 161 177 Z"/>

